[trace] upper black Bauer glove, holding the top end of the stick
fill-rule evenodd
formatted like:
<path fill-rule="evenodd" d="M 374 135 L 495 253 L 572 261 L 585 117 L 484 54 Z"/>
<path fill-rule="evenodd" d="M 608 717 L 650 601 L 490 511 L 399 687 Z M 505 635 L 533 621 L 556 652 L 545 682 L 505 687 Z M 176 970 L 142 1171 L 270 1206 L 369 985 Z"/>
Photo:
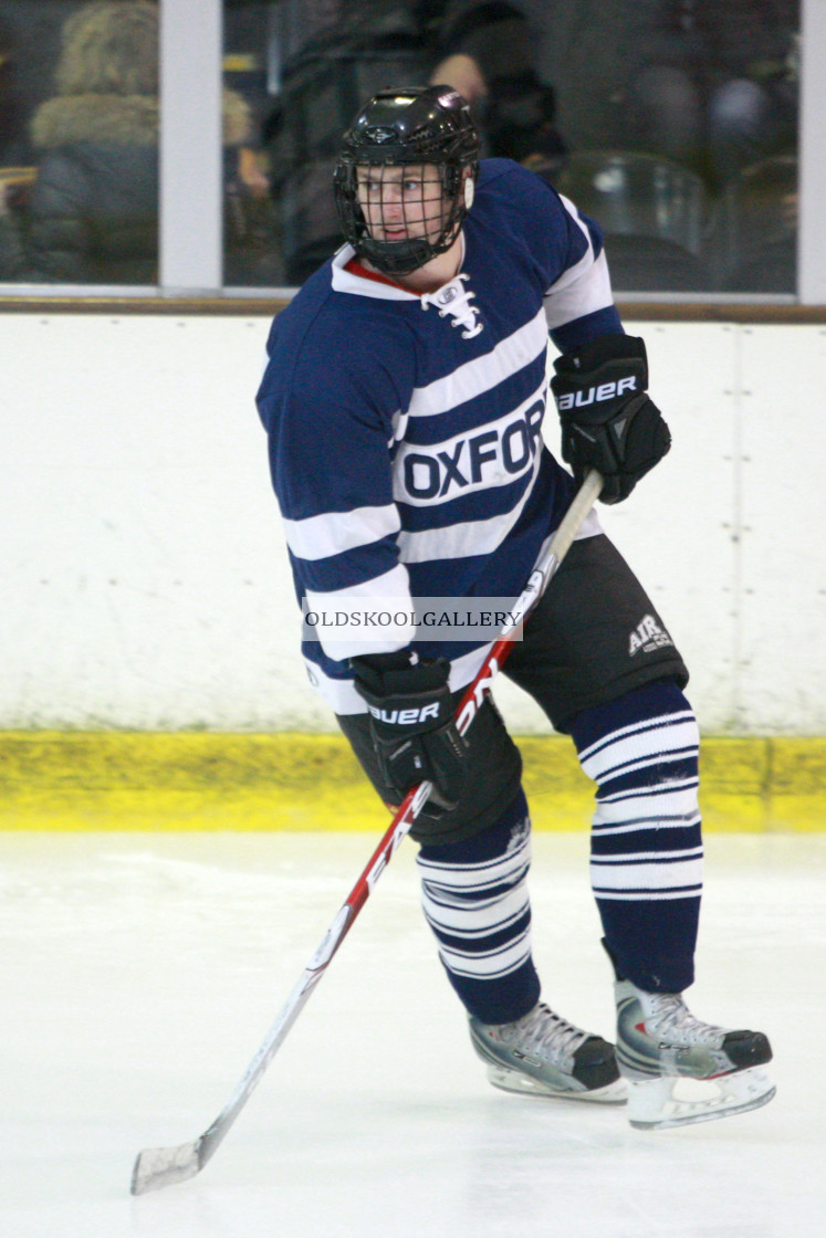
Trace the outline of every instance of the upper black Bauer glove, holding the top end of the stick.
<path fill-rule="evenodd" d="M 634 335 L 603 335 L 557 358 L 554 369 L 562 459 L 580 483 L 596 468 L 606 479 L 602 501 L 620 503 L 671 447 L 669 427 L 645 395 L 645 344 Z"/>

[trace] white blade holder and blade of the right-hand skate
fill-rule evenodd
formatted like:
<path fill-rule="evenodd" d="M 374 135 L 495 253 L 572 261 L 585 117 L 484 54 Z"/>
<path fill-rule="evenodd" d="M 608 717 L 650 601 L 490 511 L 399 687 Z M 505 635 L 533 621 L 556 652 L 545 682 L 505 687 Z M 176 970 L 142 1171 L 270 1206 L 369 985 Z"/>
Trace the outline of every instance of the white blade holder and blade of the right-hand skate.
<path fill-rule="evenodd" d="M 629 1081 L 628 1120 L 638 1130 L 664 1130 L 748 1113 L 768 1104 L 776 1088 L 760 1066 L 715 1080 L 675 1076 Z"/>

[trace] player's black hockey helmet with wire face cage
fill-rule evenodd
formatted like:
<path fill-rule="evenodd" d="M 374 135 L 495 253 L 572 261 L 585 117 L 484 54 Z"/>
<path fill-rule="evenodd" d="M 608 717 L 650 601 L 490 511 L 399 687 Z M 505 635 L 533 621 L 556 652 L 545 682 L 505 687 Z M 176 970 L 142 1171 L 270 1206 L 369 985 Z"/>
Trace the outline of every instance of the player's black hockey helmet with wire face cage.
<path fill-rule="evenodd" d="M 459 234 L 478 156 L 469 108 L 456 90 L 379 92 L 342 139 L 333 188 L 344 238 L 388 275 L 424 266 Z"/>

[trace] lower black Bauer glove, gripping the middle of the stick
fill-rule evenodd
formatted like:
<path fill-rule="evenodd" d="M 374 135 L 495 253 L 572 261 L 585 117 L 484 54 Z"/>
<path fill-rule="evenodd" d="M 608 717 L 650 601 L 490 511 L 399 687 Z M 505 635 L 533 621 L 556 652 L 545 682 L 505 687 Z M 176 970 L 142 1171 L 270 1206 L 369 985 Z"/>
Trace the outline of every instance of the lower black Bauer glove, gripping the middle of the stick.
<path fill-rule="evenodd" d="M 428 807 L 454 808 L 467 781 L 468 745 L 456 729 L 450 662 L 401 650 L 352 657 L 350 666 L 355 691 L 370 711 L 381 781 L 401 803 L 411 786 L 427 779 L 433 784 Z"/>

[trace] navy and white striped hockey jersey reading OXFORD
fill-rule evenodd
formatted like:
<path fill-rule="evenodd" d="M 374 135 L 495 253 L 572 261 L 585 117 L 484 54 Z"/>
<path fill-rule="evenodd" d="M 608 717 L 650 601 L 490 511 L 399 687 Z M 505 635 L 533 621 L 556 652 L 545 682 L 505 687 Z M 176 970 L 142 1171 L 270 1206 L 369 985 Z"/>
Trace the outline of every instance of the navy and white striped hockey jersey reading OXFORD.
<path fill-rule="evenodd" d="M 459 274 L 420 296 L 353 269 L 344 245 L 275 319 L 258 407 L 296 593 L 518 597 L 573 482 L 542 441 L 550 337 L 561 350 L 622 331 L 602 238 L 551 186 L 482 162 Z M 598 530 L 596 517 L 583 535 Z M 398 634 L 396 634 L 398 636 Z M 347 657 L 415 646 L 305 641 L 337 713 L 365 706 Z M 489 643 L 428 641 L 451 687 Z"/>

